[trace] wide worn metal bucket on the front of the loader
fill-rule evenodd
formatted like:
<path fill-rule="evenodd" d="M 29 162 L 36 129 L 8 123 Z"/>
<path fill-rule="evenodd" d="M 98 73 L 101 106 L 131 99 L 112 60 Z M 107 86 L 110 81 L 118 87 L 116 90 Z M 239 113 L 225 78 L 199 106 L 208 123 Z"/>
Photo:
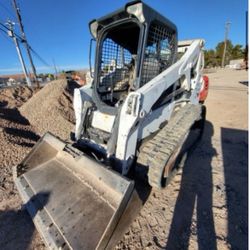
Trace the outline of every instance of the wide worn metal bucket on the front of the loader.
<path fill-rule="evenodd" d="M 14 180 L 50 249 L 111 249 L 138 213 L 134 182 L 45 134 Z"/>

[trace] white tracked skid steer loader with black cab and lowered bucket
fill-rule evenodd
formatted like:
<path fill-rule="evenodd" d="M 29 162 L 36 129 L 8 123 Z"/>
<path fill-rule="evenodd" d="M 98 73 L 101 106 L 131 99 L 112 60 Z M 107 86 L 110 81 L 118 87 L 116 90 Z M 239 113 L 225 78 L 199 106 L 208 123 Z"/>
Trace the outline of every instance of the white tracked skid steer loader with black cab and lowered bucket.
<path fill-rule="evenodd" d="M 14 168 L 50 249 L 112 249 L 142 205 L 129 173 L 146 169 L 151 187 L 166 186 L 205 118 L 203 40 L 178 42 L 176 26 L 141 1 L 89 27 L 93 82 L 75 89 L 74 142 L 47 133 Z"/>

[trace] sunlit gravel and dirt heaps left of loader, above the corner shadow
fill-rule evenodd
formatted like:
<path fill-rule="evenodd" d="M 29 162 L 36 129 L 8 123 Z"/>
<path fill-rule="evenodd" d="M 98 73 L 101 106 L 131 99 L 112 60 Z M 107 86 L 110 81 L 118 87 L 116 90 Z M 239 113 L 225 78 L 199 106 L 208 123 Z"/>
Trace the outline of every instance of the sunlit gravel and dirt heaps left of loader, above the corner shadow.
<path fill-rule="evenodd" d="M 69 137 L 74 126 L 75 87 L 78 85 L 59 80 L 40 91 L 26 86 L 0 89 L 0 190 L 13 190 L 12 166 L 27 155 L 41 135 L 51 131 L 62 139 Z M 2 198 L 0 195 L 0 201 Z"/>

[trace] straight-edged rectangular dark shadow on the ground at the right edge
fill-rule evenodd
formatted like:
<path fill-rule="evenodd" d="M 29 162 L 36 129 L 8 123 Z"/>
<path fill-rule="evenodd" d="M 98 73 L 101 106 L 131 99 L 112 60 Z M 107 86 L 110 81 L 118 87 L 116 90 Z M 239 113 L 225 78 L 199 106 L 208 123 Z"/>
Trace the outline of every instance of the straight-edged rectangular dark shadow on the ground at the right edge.
<path fill-rule="evenodd" d="M 228 221 L 232 249 L 248 249 L 248 131 L 221 128 Z"/>

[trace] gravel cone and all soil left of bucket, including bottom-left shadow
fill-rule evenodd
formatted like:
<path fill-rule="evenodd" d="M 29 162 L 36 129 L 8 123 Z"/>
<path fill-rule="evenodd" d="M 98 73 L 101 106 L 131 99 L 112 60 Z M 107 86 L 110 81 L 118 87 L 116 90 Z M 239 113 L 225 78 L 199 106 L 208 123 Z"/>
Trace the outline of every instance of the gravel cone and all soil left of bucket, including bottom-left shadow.
<path fill-rule="evenodd" d="M 75 87 L 78 85 L 59 80 L 40 91 L 21 86 L 0 90 L 0 249 L 45 249 L 30 217 L 21 209 L 12 167 L 29 153 L 39 134 L 49 130 L 63 139 L 68 137 L 74 122 Z"/>

